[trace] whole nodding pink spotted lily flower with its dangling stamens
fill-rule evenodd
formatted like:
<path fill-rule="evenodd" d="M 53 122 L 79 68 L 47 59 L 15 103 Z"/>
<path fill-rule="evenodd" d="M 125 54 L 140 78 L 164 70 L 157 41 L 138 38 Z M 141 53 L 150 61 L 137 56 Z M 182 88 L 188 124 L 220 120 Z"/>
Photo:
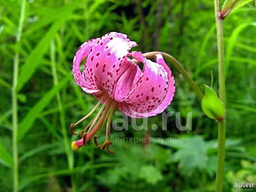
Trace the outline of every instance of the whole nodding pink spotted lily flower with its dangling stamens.
<path fill-rule="evenodd" d="M 88 40 L 76 52 L 73 61 L 73 75 L 76 83 L 84 92 L 92 94 L 99 102 L 95 108 L 70 125 L 74 126 L 88 118 L 103 104 L 93 120 L 81 131 L 81 140 L 73 141 L 72 148 L 78 150 L 86 145 L 97 131 L 102 131 L 106 124 L 106 140 L 102 146 L 94 141 L 97 147 L 107 148 L 109 152 L 110 125 L 113 111 L 117 108 L 133 118 L 145 118 L 162 113 L 171 103 L 175 93 L 175 83 L 170 68 L 161 54 L 156 55 L 156 63 L 148 60 L 141 52 L 129 52 L 135 47 L 122 33 L 111 32 L 101 38 Z M 129 57 L 143 63 L 143 70 Z M 81 72 L 81 61 L 86 58 Z M 87 131 L 88 129 L 88 131 Z"/>

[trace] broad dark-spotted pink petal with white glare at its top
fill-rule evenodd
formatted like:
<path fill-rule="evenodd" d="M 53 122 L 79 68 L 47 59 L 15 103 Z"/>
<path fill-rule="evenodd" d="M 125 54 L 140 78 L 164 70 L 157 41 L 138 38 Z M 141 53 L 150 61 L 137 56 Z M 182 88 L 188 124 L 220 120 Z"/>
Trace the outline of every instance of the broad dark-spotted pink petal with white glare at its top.
<path fill-rule="evenodd" d="M 122 74 L 125 58 L 131 47 L 136 46 L 122 33 L 111 32 L 102 36 L 88 54 L 84 64 L 84 77 L 93 88 L 105 90 L 114 98 L 115 83 Z M 126 69 L 126 68 L 125 68 Z"/>

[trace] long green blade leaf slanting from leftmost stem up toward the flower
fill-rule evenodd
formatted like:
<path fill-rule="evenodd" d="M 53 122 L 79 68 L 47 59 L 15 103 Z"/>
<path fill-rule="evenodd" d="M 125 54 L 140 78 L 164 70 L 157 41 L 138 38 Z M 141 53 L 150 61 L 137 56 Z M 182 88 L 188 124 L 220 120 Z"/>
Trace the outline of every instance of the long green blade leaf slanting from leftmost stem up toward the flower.
<path fill-rule="evenodd" d="M 20 141 L 25 136 L 26 132 L 31 129 L 36 118 L 40 116 L 41 111 L 49 104 L 52 98 L 55 97 L 56 93 L 68 83 L 68 80 L 72 77 L 71 75 L 72 74 L 69 74 L 65 79 L 63 79 L 63 81 L 61 81 L 61 83 L 52 87 L 51 90 L 45 93 L 44 97 L 42 97 L 42 99 L 40 99 L 35 106 L 29 110 L 29 113 L 25 116 L 22 122 L 20 122 L 17 141 Z"/>

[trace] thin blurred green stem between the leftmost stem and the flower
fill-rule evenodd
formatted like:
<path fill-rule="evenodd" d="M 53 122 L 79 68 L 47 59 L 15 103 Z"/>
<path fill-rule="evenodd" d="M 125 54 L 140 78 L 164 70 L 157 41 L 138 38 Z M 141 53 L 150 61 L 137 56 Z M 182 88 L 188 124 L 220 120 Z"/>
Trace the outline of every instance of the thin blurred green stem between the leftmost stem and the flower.
<path fill-rule="evenodd" d="M 52 67 L 52 76 L 53 76 L 53 83 L 54 86 L 58 85 L 58 76 L 57 76 L 57 70 L 56 70 L 56 58 L 55 58 L 55 43 L 54 40 L 51 42 L 51 67 Z M 67 155 L 67 160 L 68 160 L 68 170 L 72 171 L 74 170 L 74 156 L 72 150 L 70 150 L 70 144 L 68 142 L 68 136 L 67 136 L 67 131 L 66 131 L 66 122 L 65 122 L 65 112 L 63 109 L 63 105 L 61 102 L 61 95 L 60 92 L 56 93 L 56 98 L 58 102 L 58 109 L 60 112 L 60 124 L 61 124 L 61 132 L 63 134 L 64 138 L 64 145 L 65 145 L 65 152 Z M 72 186 L 72 191 L 76 191 L 76 182 L 74 175 L 71 175 L 71 186 Z"/>

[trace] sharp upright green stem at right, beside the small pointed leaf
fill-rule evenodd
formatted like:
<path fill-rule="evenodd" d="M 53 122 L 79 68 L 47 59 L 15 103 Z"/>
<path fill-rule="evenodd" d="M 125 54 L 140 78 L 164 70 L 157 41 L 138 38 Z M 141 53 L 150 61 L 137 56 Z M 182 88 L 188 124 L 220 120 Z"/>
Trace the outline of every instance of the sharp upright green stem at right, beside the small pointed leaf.
<path fill-rule="evenodd" d="M 218 70 L 219 70 L 219 95 L 225 109 L 226 88 L 225 88 L 225 58 L 224 58 L 224 40 L 223 40 L 223 21 L 218 18 L 220 12 L 220 1 L 214 0 L 217 40 L 218 40 Z M 223 189 L 223 174 L 225 163 L 225 129 L 226 116 L 218 122 L 218 164 L 216 171 L 215 191 L 221 192 Z"/>

